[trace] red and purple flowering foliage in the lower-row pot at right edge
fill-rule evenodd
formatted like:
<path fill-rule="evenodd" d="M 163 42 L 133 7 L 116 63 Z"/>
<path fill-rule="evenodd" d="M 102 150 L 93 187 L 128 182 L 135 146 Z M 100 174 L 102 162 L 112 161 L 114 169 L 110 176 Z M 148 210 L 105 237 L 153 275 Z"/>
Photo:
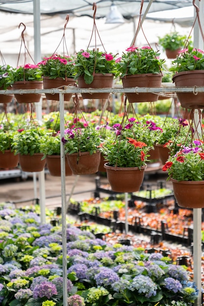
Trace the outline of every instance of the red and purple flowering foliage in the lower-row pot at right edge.
<path fill-rule="evenodd" d="M 204 146 L 202 140 L 194 140 L 192 144 L 182 145 L 180 150 L 170 156 L 162 168 L 168 171 L 169 179 L 178 181 L 204 180 Z"/>

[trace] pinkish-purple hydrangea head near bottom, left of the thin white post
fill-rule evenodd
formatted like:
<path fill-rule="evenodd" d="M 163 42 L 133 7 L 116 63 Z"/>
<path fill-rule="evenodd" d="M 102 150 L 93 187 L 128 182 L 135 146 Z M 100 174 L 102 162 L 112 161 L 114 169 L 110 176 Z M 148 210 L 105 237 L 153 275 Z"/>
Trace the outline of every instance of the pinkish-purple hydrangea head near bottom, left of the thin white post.
<path fill-rule="evenodd" d="M 51 282 L 42 282 L 41 284 L 37 284 L 33 289 L 33 298 L 37 299 L 46 297 L 50 299 L 53 295 L 57 294 L 57 288 L 55 284 Z"/>

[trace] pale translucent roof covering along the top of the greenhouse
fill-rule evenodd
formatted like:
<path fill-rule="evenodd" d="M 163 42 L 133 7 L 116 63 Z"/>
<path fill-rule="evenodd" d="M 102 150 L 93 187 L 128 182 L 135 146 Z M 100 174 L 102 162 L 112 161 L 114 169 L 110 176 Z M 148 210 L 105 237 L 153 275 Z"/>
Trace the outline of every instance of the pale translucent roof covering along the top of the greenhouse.
<path fill-rule="evenodd" d="M 104 18 L 111 4 L 115 4 L 125 19 L 138 16 L 141 0 L 40 0 L 41 14 L 55 15 L 66 13 L 70 16 L 92 17 L 93 2 L 97 6 L 96 18 Z M 148 7 L 149 0 L 143 1 L 142 12 Z M 149 13 L 192 6 L 192 0 L 153 0 Z M 0 0 L 0 11 L 10 13 L 33 14 L 33 0 Z"/>

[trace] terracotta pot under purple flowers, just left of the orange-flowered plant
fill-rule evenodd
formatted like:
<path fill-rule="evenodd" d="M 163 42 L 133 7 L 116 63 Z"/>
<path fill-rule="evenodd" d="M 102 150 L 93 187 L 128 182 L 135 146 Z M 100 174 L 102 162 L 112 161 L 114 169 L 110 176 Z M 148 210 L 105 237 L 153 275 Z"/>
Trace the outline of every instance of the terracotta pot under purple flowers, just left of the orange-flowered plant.
<path fill-rule="evenodd" d="M 98 172 L 100 164 L 100 152 L 90 154 L 81 152 L 67 154 L 68 164 L 74 175 L 89 175 Z"/>

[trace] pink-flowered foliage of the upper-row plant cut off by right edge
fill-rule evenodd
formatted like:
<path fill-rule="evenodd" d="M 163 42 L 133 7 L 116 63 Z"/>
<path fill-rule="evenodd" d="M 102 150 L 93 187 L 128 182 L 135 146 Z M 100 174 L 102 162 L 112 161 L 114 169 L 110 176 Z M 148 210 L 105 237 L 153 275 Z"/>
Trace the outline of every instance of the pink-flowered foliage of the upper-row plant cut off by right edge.
<path fill-rule="evenodd" d="M 189 70 L 203 70 L 204 51 L 192 47 L 183 49 L 180 55 L 172 61 L 172 65 L 169 70 L 175 73 Z"/>

